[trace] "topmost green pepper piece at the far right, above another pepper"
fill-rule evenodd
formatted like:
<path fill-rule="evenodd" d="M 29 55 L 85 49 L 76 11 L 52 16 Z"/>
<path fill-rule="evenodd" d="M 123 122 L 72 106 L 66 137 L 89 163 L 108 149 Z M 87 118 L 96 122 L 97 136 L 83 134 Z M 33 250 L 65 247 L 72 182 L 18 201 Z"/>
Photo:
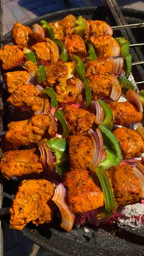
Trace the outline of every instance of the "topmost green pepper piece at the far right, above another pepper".
<path fill-rule="evenodd" d="M 120 53 L 126 57 L 129 55 L 129 40 L 125 37 L 117 37 L 115 40 L 120 45 Z"/>

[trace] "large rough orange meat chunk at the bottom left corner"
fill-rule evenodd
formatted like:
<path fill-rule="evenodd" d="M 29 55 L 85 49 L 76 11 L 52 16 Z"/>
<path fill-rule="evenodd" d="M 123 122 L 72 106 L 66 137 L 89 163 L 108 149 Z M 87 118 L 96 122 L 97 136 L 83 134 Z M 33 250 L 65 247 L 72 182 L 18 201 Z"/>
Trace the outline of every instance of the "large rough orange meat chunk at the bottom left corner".
<path fill-rule="evenodd" d="M 27 223 L 40 225 L 52 221 L 55 186 L 47 180 L 24 180 L 10 208 L 10 229 L 21 230 Z"/>

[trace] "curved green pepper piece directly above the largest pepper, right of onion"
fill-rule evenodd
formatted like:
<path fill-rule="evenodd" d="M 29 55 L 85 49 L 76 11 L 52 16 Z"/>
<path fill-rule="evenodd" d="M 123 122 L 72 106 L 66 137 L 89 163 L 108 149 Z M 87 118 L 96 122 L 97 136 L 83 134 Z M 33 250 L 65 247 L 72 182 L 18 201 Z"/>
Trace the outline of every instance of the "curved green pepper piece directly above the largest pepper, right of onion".
<path fill-rule="evenodd" d="M 102 106 L 103 111 L 104 111 L 104 120 L 102 125 L 106 126 L 107 129 L 110 131 L 112 130 L 112 125 L 113 125 L 113 114 L 109 106 L 103 101 L 103 100 L 98 100 L 99 104 Z"/>

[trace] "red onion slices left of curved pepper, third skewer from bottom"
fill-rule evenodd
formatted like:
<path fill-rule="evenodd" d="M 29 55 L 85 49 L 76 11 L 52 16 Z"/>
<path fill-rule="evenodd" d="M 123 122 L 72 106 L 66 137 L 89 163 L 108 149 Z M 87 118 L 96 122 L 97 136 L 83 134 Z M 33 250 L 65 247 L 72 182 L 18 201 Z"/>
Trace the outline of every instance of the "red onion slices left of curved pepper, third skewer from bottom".
<path fill-rule="evenodd" d="M 93 113 L 96 115 L 96 125 L 100 125 L 104 120 L 103 108 L 101 108 L 101 105 L 98 103 L 98 101 L 93 100 L 90 104 L 90 109 L 92 109 Z"/>

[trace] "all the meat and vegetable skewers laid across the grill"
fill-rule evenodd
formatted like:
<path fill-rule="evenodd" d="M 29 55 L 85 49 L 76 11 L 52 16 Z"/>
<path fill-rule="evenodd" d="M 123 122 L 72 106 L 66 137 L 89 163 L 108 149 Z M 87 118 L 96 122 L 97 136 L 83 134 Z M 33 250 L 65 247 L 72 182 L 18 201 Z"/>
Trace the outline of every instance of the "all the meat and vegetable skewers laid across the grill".
<path fill-rule="evenodd" d="M 81 216 L 109 218 L 144 199 L 144 90 L 128 79 L 129 40 L 112 34 L 68 15 L 15 23 L 0 49 L 11 114 L 0 169 L 18 183 L 10 228 L 56 214 L 70 232 Z"/>

